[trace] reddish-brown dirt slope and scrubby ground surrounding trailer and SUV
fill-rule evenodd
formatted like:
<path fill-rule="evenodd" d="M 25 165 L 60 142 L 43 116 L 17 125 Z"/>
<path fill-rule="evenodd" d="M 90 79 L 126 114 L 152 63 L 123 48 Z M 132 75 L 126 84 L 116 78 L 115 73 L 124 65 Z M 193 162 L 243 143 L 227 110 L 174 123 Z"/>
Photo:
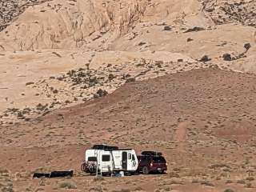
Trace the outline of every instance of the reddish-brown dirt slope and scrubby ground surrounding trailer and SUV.
<path fill-rule="evenodd" d="M 127 178 L 132 186 L 128 182 L 122 187 L 254 191 L 243 187 L 255 185 L 246 181 L 248 171 L 254 169 L 255 81 L 255 75 L 211 68 L 128 83 L 104 98 L 56 110 L 15 128 L 2 127 L 2 166 L 22 174 L 38 167 L 79 170 L 85 147 L 101 141 L 166 154 L 170 170 L 160 177 L 161 185 L 155 181 L 149 189 L 147 179 L 145 183 Z M 22 153 L 22 160 L 16 158 Z M 27 182 L 29 173 L 19 179 Z M 236 184 L 242 179 L 244 185 Z M 85 181 L 78 172 L 72 181 L 78 190 L 90 189 L 80 184 Z M 110 183 L 98 185 L 114 190 Z M 16 185 L 22 187 L 22 182 L 14 182 Z M 51 191 L 54 185 L 47 181 L 40 187 Z"/>

